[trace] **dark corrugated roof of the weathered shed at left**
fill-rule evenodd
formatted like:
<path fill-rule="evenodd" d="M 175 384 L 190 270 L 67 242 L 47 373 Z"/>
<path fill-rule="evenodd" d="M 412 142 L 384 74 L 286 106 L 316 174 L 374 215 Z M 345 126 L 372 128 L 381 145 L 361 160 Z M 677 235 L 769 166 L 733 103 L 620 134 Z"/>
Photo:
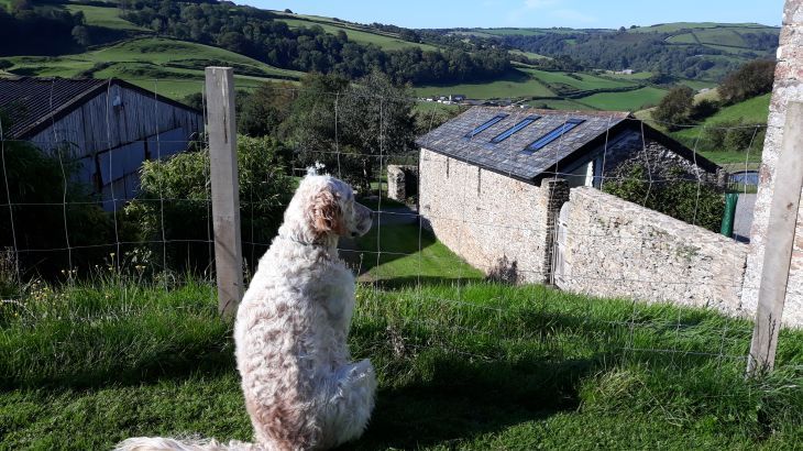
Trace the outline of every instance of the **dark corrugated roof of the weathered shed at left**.
<path fill-rule="evenodd" d="M 108 89 L 110 85 L 122 85 L 127 89 L 154 96 L 146 89 L 114 78 L 0 78 L 0 111 L 4 112 L 8 120 L 11 121 L 10 128 L 3 127 L 3 139 L 30 138 L 98 92 Z M 175 107 L 195 111 L 175 100 L 162 96 L 156 97 Z M 200 114 L 200 111 L 198 113 Z"/>

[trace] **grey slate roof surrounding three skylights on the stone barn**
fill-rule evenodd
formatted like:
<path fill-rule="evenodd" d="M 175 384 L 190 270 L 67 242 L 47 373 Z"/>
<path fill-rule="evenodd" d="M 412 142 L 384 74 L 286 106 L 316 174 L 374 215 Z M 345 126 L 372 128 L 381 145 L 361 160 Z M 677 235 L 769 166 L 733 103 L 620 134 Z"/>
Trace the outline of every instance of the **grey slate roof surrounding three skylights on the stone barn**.
<path fill-rule="evenodd" d="M 501 113 L 508 116 L 473 138 L 465 138 L 474 128 Z M 491 143 L 496 135 L 530 116 L 540 118 L 510 138 L 497 144 Z M 530 143 L 571 119 L 580 119 L 583 122 L 538 151 L 522 152 Z M 641 127 L 641 123 L 628 112 L 474 107 L 420 136 L 416 143 L 424 148 L 483 168 L 532 182 L 541 174 L 554 170 L 553 168 L 561 163 L 574 161 L 585 152 L 597 148 L 604 144 L 606 134 L 618 133 L 619 130 L 631 127 Z M 692 154 L 692 151 L 682 144 L 646 124 L 644 129 L 645 134 L 658 139 L 680 155 L 689 158 Z M 698 155 L 696 160 L 705 170 L 715 172 L 718 168 Z"/>

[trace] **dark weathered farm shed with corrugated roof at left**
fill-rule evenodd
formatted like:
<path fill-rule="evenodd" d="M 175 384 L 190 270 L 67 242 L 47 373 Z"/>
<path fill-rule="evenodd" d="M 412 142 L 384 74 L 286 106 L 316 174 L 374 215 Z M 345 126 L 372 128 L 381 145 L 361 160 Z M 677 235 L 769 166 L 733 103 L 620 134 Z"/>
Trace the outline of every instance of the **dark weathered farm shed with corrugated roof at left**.
<path fill-rule="evenodd" d="M 204 127 L 201 111 L 119 79 L 0 79 L 0 111 L 3 140 L 67 151 L 106 209 L 133 198 L 144 161 L 187 150 Z"/>

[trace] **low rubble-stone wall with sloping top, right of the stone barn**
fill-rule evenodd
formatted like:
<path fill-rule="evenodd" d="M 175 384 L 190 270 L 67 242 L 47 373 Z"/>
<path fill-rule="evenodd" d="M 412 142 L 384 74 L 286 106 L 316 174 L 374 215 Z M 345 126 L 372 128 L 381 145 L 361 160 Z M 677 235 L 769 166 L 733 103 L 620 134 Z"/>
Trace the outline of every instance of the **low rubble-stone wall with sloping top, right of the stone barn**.
<path fill-rule="evenodd" d="M 560 217 L 561 288 L 743 314 L 746 244 L 590 187 Z"/>

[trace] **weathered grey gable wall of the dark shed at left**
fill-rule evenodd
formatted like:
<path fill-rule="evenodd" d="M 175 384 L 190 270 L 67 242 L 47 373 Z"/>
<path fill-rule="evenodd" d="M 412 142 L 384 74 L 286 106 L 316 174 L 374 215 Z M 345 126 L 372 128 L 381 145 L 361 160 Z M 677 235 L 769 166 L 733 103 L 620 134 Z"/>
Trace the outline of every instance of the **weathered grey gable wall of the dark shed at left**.
<path fill-rule="evenodd" d="M 67 143 L 78 161 L 79 182 L 101 191 L 105 199 L 130 199 L 139 187 L 142 162 L 186 150 L 201 127 L 197 112 L 111 85 L 31 142 L 44 151 Z"/>

